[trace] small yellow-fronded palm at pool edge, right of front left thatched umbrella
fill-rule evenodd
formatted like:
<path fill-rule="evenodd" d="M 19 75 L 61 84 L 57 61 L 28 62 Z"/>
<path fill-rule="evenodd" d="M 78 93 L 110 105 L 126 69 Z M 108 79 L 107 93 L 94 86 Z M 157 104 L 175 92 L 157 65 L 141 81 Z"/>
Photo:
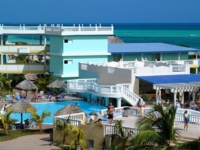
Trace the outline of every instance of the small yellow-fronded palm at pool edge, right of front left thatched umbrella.
<path fill-rule="evenodd" d="M 36 122 L 36 125 L 40 128 L 40 133 L 42 133 L 42 123 L 46 117 L 51 117 L 51 112 L 43 111 L 41 116 L 31 108 L 28 109 L 28 112 L 31 113 L 31 120 Z"/>

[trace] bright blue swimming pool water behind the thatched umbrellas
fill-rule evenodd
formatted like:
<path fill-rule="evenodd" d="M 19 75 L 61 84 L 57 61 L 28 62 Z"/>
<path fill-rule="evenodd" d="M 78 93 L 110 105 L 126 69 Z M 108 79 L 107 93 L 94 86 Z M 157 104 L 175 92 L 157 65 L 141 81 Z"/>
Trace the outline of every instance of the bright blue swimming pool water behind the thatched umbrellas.
<path fill-rule="evenodd" d="M 105 106 L 94 105 L 85 101 L 63 101 L 63 102 L 51 102 L 51 103 L 32 103 L 32 105 L 37 109 L 38 114 L 42 114 L 44 110 L 47 112 L 51 112 L 51 117 L 47 117 L 44 120 L 45 124 L 53 123 L 54 114 L 61 108 L 65 107 L 68 104 L 78 104 L 78 107 L 82 109 L 85 113 L 90 112 L 99 112 L 102 109 L 106 109 Z M 17 119 L 19 122 L 21 121 L 20 113 L 11 114 L 13 119 Z M 30 119 L 30 113 L 23 113 L 23 121 L 27 118 Z"/>

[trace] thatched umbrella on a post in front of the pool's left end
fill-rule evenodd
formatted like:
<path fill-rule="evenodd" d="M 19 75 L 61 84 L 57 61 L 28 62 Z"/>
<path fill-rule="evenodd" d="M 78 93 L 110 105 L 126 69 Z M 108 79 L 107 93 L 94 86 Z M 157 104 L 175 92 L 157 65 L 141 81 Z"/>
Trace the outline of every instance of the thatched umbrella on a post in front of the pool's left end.
<path fill-rule="evenodd" d="M 19 100 L 17 103 L 12 104 L 8 107 L 9 111 L 13 113 L 21 113 L 21 124 L 23 122 L 23 113 L 28 112 L 27 110 L 31 108 L 36 110 L 29 102 L 25 102 L 24 100 Z"/>

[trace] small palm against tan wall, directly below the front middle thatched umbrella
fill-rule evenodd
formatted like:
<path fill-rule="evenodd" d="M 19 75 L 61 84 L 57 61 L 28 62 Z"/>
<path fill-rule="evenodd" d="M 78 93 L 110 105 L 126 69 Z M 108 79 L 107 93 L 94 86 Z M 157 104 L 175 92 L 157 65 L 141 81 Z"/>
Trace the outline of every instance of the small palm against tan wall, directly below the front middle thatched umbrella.
<path fill-rule="evenodd" d="M 56 122 L 56 129 L 60 130 L 62 133 L 62 144 L 65 143 L 65 137 L 66 135 L 69 135 L 74 129 L 74 125 L 70 124 L 70 116 L 67 120 L 61 120 Z"/>

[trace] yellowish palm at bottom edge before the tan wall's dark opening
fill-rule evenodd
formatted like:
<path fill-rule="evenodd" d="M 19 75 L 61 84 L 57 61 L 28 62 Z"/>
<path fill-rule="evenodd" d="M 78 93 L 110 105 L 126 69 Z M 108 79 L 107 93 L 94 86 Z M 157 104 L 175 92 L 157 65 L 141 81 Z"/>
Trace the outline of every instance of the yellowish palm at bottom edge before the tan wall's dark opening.
<path fill-rule="evenodd" d="M 75 146 L 76 150 L 81 150 L 81 147 L 86 145 L 84 130 L 78 127 L 74 127 L 74 140 L 71 142 L 71 147 Z"/>

